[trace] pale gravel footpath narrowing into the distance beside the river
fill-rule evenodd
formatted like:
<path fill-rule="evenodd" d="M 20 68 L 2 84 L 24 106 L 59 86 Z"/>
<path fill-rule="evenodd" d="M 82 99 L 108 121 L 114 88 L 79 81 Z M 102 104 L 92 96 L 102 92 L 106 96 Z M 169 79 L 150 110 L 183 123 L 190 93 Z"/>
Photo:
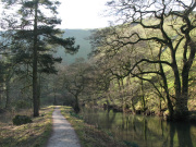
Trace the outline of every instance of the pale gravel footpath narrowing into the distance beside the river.
<path fill-rule="evenodd" d="M 53 133 L 47 147 L 81 147 L 79 140 L 71 124 L 61 114 L 57 107 L 52 113 Z"/>

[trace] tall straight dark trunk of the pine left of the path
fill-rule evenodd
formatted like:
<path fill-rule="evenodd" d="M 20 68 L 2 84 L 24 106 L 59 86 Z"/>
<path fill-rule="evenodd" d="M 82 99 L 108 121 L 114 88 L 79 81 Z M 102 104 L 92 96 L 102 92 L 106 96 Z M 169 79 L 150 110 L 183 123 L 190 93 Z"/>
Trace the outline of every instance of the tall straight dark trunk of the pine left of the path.
<path fill-rule="evenodd" d="M 34 100 L 34 117 L 39 115 L 39 100 L 37 91 L 37 10 L 38 0 L 35 1 L 35 20 L 34 20 L 34 56 L 33 56 L 33 100 Z"/>

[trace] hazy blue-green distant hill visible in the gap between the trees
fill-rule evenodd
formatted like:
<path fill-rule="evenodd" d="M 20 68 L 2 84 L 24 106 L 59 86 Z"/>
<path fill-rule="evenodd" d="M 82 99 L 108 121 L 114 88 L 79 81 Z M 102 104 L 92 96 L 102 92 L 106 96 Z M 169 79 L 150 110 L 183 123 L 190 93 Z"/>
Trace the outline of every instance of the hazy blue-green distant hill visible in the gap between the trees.
<path fill-rule="evenodd" d="M 76 58 L 87 59 L 87 54 L 90 52 L 90 44 L 87 38 L 90 36 L 91 29 L 64 29 L 63 37 L 74 37 L 75 45 L 79 45 L 79 50 L 75 54 L 69 54 L 64 52 L 63 48 L 59 48 L 56 56 L 62 58 L 62 64 L 71 64 Z"/>

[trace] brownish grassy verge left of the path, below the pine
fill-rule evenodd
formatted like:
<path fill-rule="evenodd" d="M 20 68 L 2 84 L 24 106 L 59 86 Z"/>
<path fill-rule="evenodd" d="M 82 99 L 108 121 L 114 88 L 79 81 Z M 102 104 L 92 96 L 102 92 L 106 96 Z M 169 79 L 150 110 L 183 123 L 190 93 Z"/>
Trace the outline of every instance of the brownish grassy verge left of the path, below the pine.
<path fill-rule="evenodd" d="M 33 118 L 33 123 L 20 126 L 11 122 L 0 122 L 1 147 L 42 147 L 52 131 L 53 107 L 40 109 L 40 117 Z M 20 113 L 19 113 L 20 114 Z"/>

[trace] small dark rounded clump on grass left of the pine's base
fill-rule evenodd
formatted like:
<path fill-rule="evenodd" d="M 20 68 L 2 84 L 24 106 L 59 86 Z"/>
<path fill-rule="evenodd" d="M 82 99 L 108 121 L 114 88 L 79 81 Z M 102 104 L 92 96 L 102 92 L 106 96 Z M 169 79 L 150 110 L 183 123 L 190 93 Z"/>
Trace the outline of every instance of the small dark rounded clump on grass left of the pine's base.
<path fill-rule="evenodd" d="M 15 118 L 12 120 L 14 125 L 22 125 L 26 123 L 32 123 L 32 119 L 27 115 L 15 115 Z"/>

